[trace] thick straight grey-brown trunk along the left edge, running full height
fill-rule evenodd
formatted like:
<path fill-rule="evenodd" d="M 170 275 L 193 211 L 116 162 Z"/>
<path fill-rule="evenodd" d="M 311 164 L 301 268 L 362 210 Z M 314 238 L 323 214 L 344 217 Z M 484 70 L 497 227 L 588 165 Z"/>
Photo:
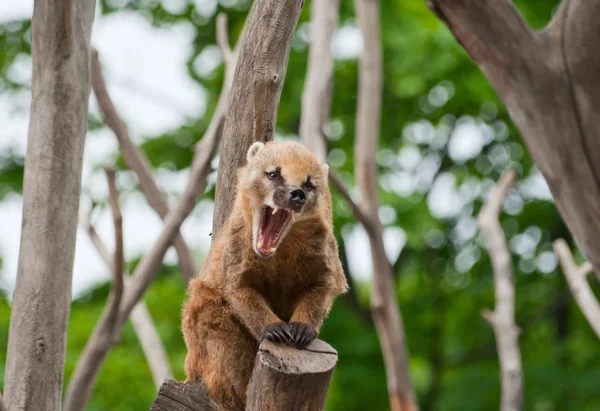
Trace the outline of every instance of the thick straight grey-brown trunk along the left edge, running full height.
<path fill-rule="evenodd" d="M 59 410 L 90 94 L 94 0 L 36 0 L 23 226 L 5 400 Z"/>

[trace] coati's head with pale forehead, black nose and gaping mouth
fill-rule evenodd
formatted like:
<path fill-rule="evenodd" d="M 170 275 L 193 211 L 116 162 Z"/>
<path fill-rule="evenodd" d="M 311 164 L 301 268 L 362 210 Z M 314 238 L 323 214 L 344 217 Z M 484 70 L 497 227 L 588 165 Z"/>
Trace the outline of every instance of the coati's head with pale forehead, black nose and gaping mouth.
<path fill-rule="evenodd" d="M 252 242 L 270 257 L 294 223 L 319 214 L 328 166 L 297 142 L 254 143 L 240 174 L 252 210 Z"/>

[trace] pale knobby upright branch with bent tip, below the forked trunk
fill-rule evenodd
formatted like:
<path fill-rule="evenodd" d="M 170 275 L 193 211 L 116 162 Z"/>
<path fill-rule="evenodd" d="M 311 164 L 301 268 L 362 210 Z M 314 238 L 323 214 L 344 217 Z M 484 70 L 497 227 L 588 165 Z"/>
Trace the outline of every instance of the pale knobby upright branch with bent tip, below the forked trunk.
<path fill-rule="evenodd" d="M 514 322 L 515 288 L 512 261 L 499 220 L 504 199 L 516 180 L 515 170 L 507 170 L 491 190 L 477 216 L 477 224 L 487 242 L 494 271 L 496 306 L 493 312 L 483 311 L 482 316 L 490 323 L 496 334 L 496 348 L 502 377 L 500 407 L 502 411 L 520 410 L 523 397 L 519 329 Z"/>

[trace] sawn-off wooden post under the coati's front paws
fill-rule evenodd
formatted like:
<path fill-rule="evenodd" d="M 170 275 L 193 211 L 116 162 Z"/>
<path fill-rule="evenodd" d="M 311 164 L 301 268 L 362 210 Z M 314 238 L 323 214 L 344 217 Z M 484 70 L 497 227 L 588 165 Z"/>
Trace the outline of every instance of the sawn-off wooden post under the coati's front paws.
<path fill-rule="evenodd" d="M 321 411 L 337 351 L 315 340 L 304 350 L 264 341 L 248 388 L 247 411 Z"/>

